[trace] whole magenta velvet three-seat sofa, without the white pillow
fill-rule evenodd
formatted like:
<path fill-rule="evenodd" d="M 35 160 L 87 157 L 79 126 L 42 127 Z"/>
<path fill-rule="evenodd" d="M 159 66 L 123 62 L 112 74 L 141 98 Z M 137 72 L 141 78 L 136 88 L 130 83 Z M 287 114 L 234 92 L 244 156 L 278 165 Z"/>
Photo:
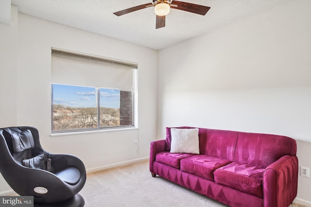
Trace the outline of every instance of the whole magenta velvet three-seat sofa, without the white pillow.
<path fill-rule="evenodd" d="M 174 127 L 195 128 L 195 127 Z M 297 194 L 294 139 L 271 134 L 198 128 L 200 154 L 170 153 L 151 142 L 150 172 L 230 207 L 288 207 Z"/>

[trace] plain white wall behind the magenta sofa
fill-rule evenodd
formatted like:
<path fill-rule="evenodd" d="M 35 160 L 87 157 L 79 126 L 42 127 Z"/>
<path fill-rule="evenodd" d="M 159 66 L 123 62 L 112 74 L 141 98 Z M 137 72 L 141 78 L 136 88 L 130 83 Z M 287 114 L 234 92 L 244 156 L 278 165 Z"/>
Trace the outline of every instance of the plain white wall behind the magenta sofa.
<path fill-rule="evenodd" d="M 310 7 L 297 0 L 160 50 L 158 139 L 176 126 L 280 134 L 311 168 Z M 299 176 L 297 198 L 311 204 L 310 180 Z"/>

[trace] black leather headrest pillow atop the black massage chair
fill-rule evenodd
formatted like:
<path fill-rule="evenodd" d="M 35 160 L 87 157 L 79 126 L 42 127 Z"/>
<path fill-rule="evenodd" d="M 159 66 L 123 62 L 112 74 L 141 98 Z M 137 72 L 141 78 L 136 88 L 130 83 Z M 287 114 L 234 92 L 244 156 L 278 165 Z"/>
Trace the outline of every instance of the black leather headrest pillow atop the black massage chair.
<path fill-rule="evenodd" d="M 35 141 L 33 134 L 29 129 L 21 132 L 12 133 L 13 149 L 15 153 L 21 153 L 22 151 L 35 147 Z"/>

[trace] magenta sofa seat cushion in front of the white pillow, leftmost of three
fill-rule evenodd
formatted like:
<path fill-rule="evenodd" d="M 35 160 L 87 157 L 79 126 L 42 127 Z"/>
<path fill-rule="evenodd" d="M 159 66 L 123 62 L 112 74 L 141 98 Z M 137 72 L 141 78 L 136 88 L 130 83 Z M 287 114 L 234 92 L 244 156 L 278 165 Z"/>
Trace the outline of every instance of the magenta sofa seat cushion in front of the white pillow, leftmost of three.
<path fill-rule="evenodd" d="M 159 152 L 155 155 L 155 161 L 180 169 L 180 160 L 189 158 L 193 155 L 195 154 Z"/>

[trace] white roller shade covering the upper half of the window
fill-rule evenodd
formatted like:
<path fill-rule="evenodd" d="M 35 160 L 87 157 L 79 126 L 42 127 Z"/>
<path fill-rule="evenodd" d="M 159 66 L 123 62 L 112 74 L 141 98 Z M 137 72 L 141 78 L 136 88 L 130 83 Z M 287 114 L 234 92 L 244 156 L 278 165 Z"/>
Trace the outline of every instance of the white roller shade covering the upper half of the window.
<path fill-rule="evenodd" d="M 52 48 L 52 82 L 134 90 L 137 64 Z"/>

